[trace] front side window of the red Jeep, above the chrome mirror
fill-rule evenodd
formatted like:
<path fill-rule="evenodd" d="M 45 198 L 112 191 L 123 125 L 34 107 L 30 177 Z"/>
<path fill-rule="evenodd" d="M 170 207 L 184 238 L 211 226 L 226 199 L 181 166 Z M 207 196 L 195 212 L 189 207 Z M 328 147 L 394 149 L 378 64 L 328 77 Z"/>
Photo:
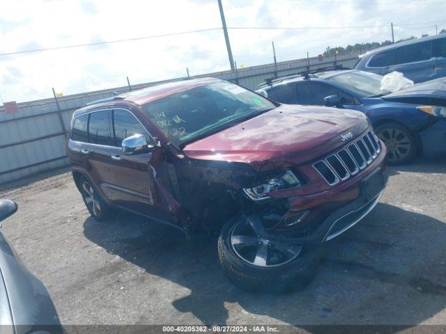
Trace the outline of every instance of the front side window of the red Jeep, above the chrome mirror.
<path fill-rule="evenodd" d="M 116 146 L 121 147 L 122 141 L 134 134 L 144 134 L 147 142 L 150 143 L 151 137 L 146 129 L 139 123 L 130 111 L 116 109 L 113 111 L 113 128 Z"/>

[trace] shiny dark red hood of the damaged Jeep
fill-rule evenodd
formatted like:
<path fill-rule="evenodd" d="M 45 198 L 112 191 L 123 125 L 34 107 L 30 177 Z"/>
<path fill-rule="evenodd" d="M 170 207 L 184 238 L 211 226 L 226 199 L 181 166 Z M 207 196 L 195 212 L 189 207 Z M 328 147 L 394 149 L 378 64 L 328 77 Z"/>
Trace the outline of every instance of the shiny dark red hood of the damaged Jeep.
<path fill-rule="evenodd" d="M 345 145 L 341 135 L 351 132 L 356 138 L 367 127 L 367 117 L 357 111 L 282 104 L 191 143 L 183 152 L 192 159 L 243 162 L 254 168 L 276 161 L 300 164 Z"/>

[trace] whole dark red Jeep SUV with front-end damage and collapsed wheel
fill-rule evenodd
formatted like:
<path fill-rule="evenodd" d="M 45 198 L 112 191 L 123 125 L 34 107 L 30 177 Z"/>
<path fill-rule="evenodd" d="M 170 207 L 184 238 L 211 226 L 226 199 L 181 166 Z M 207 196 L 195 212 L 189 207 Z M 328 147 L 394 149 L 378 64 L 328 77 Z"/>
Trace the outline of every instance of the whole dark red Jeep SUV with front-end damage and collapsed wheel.
<path fill-rule="evenodd" d="M 272 102 L 228 81 L 190 79 L 75 111 L 67 143 L 91 215 L 112 208 L 193 236 L 219 236 L 245 289 L 308 280 L 318 250 L 374 208 L 385 146 L 363 113 Z"/>

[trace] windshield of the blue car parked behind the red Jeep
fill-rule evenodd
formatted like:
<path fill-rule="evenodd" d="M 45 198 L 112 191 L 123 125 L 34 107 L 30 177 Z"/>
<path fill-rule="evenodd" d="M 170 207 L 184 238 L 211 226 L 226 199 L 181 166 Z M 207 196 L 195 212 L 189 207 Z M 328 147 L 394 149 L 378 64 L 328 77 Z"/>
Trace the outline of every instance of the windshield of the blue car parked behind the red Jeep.
<path fill-rule="evenodd" d="M 383 77 L 378 74 L 364 71 L 346 72 L 327 78 L 328 81 L 344 86 L 361 97 L 378 97 L 391 93 L 380 88 L 381 79 Z"/>

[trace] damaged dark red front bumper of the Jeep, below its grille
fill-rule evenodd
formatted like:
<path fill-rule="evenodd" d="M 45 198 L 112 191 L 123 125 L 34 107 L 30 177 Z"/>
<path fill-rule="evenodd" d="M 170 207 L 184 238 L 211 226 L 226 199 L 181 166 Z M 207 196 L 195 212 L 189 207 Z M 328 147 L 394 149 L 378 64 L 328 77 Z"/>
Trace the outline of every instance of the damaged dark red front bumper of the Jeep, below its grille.
<path fill-rule="evenodd" d="M 300 212 L 309 212 L 293 228 L 279 223 L 273 228 L 286 238 L 299 244 L 321 244 L 337 237 L 353 227 L 377 204 L 387 184 L 386 149 L 382 150 L 375 161 L 359 175 L 333 186 L 329 191 L 307 196 L 291 196 L 287 217 Z"/>

